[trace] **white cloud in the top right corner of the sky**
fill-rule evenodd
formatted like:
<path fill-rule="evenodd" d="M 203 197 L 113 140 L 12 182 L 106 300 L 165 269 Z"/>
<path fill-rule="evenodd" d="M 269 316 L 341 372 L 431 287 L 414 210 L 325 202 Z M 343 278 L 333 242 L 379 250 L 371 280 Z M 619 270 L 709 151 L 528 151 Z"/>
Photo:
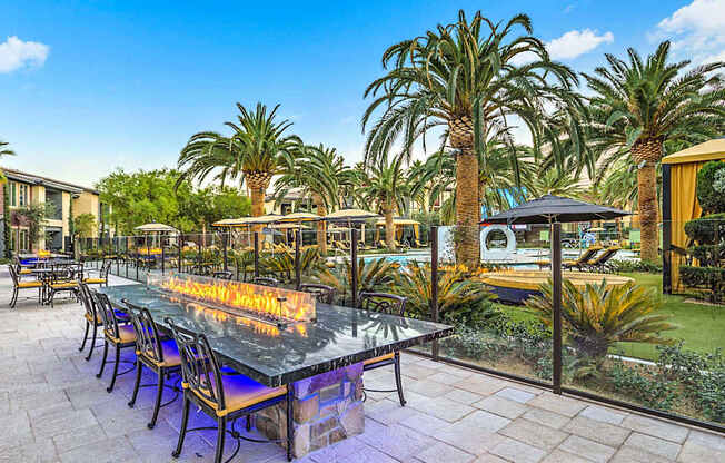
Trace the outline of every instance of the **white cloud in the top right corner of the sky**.
<path fill-rule="evenodd" d="M 695 63 L 723 57 L 725 0 L 694 0 L 657 24 L 656 40 L 672 40 L 673 50 Z"/>

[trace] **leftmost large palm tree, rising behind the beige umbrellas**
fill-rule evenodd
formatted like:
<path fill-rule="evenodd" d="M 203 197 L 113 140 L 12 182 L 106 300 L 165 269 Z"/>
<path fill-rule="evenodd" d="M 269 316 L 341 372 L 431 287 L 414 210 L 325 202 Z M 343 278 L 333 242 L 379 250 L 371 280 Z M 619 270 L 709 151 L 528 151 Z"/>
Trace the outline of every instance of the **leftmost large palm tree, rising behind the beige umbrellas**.
<path fill-rule="evenodd" d="M 237 122 L 225 122 L 234 130 L 230 137 L 213 131 L 191 136 L 179 156 L 179 183 L 187 178 L 202 181 L 215 171 L 222 185 L 227 178 L 239 178 L 251 190 L 251 215 L 258 217 L 265 214 L 269 181 L 280 166 L 291 164 L 288 158 L 298 155 L 301 141 L 285 134 L 292 122 L 275 120 L 279 105 L 269 112 L 260 102 L 255 110 L 240 104 L 237 108 Z"/>

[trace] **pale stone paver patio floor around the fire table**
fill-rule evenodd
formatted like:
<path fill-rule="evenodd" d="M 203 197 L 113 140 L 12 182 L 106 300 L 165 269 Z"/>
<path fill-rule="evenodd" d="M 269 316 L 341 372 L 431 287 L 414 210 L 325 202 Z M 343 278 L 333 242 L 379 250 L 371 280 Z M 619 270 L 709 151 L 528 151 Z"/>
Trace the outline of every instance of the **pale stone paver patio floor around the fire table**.
<path fill-rule="evenodd" d="M 120 278 L 112 283 L 127 283 Z M 76 302 L 7 308 L 11 282 L 0 269 L 0 462 L 172 462 L 181 401 L 146 427 L 153 388 L 136 408 L 127 402 L 132 374 L 108 394 L 96 378 L 101 353 L 78 352 L 82 308 Z M 128 354 L 127 354 L 128 355 Z M 723 462 L 725 437 L 504 381 L 415 355 L 403 356 L 408 405 L 369 394 L 365 434 L 300 462 Z M 107 370 L 108 372 L 108 370 Z M 149 376 L 145 383 L 153 381 Z M 365 374 L 388 388 L 393 372 Z M 170 392 L 166 392 L 170 396 Z M 213 425 L 203 414 L 190 426 Z M 216 431 L 187 436 L 180 462 L 213 459 Z M 226 456 L 236 444 L 227 440 Z M 276 444 L 241 444 L 235 462 L 285 462 Z"/>

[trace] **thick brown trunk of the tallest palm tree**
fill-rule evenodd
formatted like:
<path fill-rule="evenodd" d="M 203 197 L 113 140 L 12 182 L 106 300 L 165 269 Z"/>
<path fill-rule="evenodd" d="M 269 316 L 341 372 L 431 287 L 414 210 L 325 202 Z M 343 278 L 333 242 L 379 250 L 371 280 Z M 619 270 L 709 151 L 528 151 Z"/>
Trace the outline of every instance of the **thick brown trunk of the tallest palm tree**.
<path fill-rule="evenodd" d="M 469 269 L 480 262 L 478 156 L 474 151 L 474 127 L 467 116 L 448 124 L 456 154 L 456 263 Z"/>

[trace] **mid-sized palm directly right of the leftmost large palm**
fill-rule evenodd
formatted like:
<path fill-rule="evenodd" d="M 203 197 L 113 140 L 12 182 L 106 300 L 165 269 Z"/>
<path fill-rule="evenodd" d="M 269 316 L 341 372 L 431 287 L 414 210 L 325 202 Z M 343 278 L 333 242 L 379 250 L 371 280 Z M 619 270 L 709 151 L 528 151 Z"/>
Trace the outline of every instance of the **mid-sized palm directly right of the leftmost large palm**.
<path fill-rule="evenodd" d="M 339 207 L 340 190 L 354 184 L 350 167 L 345 165 L 342 156 L 335 148 L 306 146 L 300 157 L 287 158 L 281 168 L 282 175 L 275 180 L 275 196 L 278 200 L 291 189 L 301 188 L 312 197 L 317 214 L 327 215 L 328 210 Z M 327 253 L 325 221 L 317 224 L 317 243 L 322 254 Z"/>

